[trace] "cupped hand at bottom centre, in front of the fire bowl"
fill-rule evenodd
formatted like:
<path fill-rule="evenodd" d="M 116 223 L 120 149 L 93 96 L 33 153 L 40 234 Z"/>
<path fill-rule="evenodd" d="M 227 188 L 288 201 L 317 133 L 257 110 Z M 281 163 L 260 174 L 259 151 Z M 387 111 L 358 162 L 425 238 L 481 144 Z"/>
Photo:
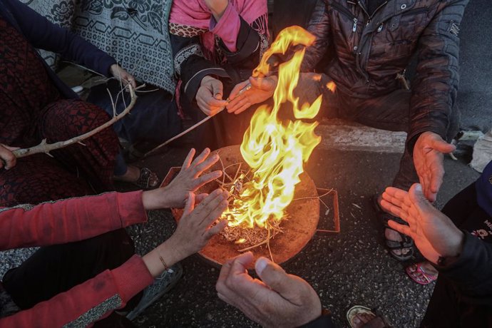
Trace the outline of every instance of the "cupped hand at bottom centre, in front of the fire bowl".
<path fill-rule="evenodd" d="M 263 327 L 299 327 L 321 315 L 319 297 L 306 281 L 265 257 L 255 264 L 261 280 L 253 279 L 246 270 L 252 260 L 246 252 L 222 265 L 215 286 L 220 299 Z"/>

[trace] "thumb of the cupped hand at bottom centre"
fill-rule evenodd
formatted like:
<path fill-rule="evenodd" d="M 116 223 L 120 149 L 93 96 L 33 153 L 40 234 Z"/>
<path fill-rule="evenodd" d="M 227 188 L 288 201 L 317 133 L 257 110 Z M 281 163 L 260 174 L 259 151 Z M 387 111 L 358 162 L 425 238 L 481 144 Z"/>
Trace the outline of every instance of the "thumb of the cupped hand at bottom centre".
<path fill-rule="evenodd" d="M 266 257 L 260 257 L 255 263 L 255 270 L 265 284 L 275 292 L 285 297 L 292 289 L 291 280 L 287 272 L 280 265 L 268 260 Z M 288 299 L 288 297 L 285 297 Z"/>

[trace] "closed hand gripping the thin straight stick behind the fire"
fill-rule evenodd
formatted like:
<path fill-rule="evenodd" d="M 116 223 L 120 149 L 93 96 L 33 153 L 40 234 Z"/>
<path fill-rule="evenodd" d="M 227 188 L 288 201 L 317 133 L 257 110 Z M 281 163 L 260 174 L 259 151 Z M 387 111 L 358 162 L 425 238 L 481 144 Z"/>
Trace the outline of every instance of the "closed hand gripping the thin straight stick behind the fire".
<path fill-rule="evenodd" d="M 200 83 L 200 88 L 196 95 L 198 107 L 207 116 L 214 116 L 227 105 L 227 101 L 222 100 L 222 82 L 212 76 L 205 76 Z"/>

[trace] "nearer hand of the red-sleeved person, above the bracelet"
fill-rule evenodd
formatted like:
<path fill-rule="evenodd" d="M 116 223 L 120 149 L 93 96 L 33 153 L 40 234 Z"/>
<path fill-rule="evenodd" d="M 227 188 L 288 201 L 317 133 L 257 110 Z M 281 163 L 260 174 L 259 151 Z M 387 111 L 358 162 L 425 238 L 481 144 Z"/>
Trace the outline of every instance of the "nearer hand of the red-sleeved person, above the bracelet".
<path fill-rule="evenodd" d="M 227 191 L 217 189 L 195 207 L 195 194 L 190 193 L 178 227 L 169 238 L 180 260 L 202 250 L 212 236 L 225 228 L 227 220 L 212 224 L 227 208 L 228 197 Z"/>

